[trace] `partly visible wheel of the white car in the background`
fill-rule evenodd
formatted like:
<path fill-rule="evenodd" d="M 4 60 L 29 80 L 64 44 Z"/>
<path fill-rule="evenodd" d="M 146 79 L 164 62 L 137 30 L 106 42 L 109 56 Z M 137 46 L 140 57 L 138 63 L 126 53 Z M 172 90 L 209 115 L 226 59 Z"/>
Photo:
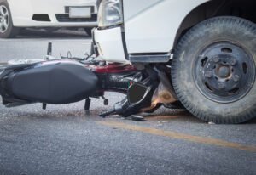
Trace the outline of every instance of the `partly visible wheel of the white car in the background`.
<path fill-rule="evenodd" d="M 11 38 L 19 33 L 19 28 L 13 24 L 9 4 L 0 0 L 0 37 Z"/>

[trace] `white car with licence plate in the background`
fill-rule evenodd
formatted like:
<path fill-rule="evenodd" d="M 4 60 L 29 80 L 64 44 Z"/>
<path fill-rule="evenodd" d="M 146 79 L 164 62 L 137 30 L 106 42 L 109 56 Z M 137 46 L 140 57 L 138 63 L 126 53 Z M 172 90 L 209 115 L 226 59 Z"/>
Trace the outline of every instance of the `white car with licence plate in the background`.
<path fill-rule="evenodd" d="M 20 28 L 97 25 L 96 0 L 0 0 L 0 37 L 15 37 Z"/>

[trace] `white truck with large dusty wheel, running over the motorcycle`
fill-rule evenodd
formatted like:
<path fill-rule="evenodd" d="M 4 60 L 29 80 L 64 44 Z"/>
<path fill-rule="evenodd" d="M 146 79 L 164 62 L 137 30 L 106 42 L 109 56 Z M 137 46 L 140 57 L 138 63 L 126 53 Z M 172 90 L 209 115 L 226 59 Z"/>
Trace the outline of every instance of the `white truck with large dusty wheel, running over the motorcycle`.
<path fill-rule="evenodd" d="M 256 2 L 102 0 L 96 53 L 108 62 L 166 65 L 177 99 L 216 123 L 256 116 Z"/>

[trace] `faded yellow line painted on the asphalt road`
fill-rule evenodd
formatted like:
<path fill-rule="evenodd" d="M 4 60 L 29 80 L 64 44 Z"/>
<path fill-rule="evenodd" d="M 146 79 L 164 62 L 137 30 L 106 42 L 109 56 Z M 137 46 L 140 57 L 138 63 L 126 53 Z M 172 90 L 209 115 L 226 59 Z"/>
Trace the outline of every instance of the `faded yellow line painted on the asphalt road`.
<path fill-rule="evenodd" d="M 228 147 L 228 148 L 237 149 L 237 150 L 247 150 L 251 152 L 256 152 L 256 146 L 232 143 L 232 142 L 228 142 L 228 141 L 217 139 L 217 138 L 205 138 L 205 137 L 194 136 L 194 135 L 189 135 L 185 133 L 165 131 L 165 130 L 156 129 L 152 127 L 140 127 L 137 125 L 130 125 L 130 124 L 125 124 L 123 122 L 116 122 L 116 121 L 98 121 L 98 123 L 108 127 L 122 128 L 122 129 L 131 130 L 131 131 L 138 131 L 138 132 L 150 133 L 158 136 L 177 138 L 177 139 L 182 139 L 182 140 L 201 143 L 201 144 L 212 144 L 216 146 L 223 146 L 223 147 Z"/>

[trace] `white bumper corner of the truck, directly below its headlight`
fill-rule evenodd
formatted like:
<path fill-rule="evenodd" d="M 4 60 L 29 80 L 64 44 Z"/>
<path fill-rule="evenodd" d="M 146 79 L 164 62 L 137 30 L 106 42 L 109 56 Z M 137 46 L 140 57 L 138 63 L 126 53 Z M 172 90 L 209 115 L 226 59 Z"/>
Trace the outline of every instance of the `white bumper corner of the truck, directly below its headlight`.
<path fill-rule="evenodd" d="M 129 63 L 125 59 L 125 49 L 121 27 L 94 31 L 94 42 L 97 53 L 108 62 Z"/>

